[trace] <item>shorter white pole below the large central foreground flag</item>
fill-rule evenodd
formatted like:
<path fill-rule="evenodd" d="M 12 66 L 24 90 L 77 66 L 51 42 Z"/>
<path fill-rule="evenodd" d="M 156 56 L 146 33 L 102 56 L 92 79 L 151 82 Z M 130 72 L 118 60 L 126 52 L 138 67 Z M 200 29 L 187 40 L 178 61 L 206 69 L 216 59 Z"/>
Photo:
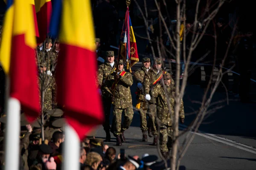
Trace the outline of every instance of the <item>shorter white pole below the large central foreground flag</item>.
<path fill-rule="evenodd" d="M 76 131 L 66 123 L 64 142 L 64 170 L 80 170 L 80 139 Z"/>

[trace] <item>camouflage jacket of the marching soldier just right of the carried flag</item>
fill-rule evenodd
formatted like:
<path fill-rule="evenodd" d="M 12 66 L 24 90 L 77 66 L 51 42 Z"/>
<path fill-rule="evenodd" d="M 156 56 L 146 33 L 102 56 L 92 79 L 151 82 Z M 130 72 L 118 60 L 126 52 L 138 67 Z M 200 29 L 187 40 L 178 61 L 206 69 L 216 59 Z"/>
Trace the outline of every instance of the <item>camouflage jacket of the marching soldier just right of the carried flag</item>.
<path fill-rule="evenodd" d="M 134 78 L 137 81 L 137 83 L 140 82 L 140 83 L 143 84 L 145 75 L 148 75 L 148 71 L 147 71 L 147 69 L 145 67 L 142 67 L 142 68 L 140 68 L 140 69 L 135 71 Z M 136 94 L 137 94 L 137 99 L 140 99 L 140 101 L 144 101 L 145 100 L 145 90 L 144 90 L 144 87 L 143 87 L 143 89 L 137 88 Z"/>

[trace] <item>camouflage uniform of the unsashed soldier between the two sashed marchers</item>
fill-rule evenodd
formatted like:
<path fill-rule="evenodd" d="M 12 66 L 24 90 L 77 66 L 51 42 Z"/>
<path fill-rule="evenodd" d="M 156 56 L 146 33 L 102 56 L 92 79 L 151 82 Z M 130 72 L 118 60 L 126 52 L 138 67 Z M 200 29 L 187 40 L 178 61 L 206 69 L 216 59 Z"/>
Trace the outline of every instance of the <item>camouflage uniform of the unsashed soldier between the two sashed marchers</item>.
<path fill-rule="evenodd" d="M 145 60 L 147 60 L 146 58 Z M 144 61 L 144 60 L 143 60 Z M 150 61 L 150 60 L 149 60 Z M 137 83 L 140 82 L 143 84 L 145 75 L 148 74 L 147 69 L 143 66 L 139 70 L 135 71 L 134 78 L 136 79 Z M 145 101 L 145 93 L 144 87 L 142 89 L 137 88 L 137 100 L 140 102 L 140 129 L 141 130 L 148 130 L 147 127 L 147 109 L 148 109 L 148 102 Z"/>

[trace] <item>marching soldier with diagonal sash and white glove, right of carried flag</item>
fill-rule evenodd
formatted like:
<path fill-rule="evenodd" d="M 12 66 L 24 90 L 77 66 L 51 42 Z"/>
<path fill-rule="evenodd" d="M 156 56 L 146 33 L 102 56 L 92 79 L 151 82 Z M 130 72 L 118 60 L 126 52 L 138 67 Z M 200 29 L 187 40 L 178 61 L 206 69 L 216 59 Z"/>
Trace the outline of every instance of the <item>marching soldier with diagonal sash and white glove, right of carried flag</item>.
<path fill-rule="evenodd" d="M 164 71 L 166 74 L 166 71 Z M 157 145 L 157 128 L 155 125 L 155 116 L 157 112 L 156 108 L 156 97 L 155 93 L 157 92 L 157 88 L 161 86 L 157 86 L 156 84 L 161 82 L 163 77 L 162 70 L 162 62 L 159 58 L 157 58 L 154 62 L 153 68 L 148 70 L 148 75 L 144 78 L 144 90 L 145 90 L 145 99 L 148 100 L 148 136 L 154 136 L 153 145 Z M 152 135 L 151 135 L 152 133 Z"/>

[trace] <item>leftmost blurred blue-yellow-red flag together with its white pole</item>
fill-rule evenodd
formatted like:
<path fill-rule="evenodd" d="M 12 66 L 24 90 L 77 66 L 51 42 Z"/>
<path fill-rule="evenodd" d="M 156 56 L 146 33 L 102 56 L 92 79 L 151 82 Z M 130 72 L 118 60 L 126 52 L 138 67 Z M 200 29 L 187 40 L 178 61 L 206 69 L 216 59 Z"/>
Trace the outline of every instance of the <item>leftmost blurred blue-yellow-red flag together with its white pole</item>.
<path fill-rule="evenodd" d="M 5 170 L 18 170 L 20 169 L 20 108 L 25 112 L 29 122 L 35 120 L 40 111 L 38 71 L 35 63 L 35 23 L 31 3 L 28 1 L 8 0 L 6 4 L 0 51 L 0 62 L 6 73 L 6 93 L 8 93 L 6 94 Z M 3 44 L 5 45 L 2 46 Z"/>

